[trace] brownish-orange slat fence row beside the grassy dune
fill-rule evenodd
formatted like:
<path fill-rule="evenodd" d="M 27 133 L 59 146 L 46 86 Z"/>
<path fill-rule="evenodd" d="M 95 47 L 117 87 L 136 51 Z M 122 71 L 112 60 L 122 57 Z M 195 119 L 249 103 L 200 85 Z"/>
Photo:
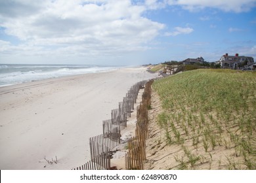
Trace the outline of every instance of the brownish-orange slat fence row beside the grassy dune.
<path fill-rule="evenodd" d="M 151 85 L 150 80 L 145 85 L 142 94 L 142 102 L 137 107 L 137 124 L 135 137 L 128 141 L 128 152 L 125 155 L 125 169 L 142 170 L 146 161 L 146 139 L 148 138 L 148 109 L 151 108 Z"/>

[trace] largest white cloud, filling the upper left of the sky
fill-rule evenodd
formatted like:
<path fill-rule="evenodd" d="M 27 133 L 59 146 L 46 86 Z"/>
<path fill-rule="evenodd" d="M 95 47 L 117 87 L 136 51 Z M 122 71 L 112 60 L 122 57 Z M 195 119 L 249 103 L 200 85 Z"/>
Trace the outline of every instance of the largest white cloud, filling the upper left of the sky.
<path fill-rule="evenodd" d="M 147 49 L 144 44 L 165 27 L 129 0 L 18 0 L 0 7 L 0 27 L 24 43 L 12 47 L 17 54 L 118 55 Z"/>

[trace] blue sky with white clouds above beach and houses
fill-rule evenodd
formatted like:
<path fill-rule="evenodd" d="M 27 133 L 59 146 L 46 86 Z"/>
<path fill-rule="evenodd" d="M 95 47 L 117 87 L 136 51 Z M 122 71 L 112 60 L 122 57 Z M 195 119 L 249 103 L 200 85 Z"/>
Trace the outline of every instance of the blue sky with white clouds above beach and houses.
<path fill-rule="evenodd" d="M 256 60 L 256 0 L 0 0 L 0 63 Z"/>

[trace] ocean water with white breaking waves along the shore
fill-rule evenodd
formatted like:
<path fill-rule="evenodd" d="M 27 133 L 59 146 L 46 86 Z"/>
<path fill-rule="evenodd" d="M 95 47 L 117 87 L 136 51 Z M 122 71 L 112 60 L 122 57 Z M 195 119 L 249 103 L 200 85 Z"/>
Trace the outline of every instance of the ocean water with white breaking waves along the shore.
<path fill-rule="evenodd" d="M 60 76 L 112 71 L 119 67 L 104 65 L 0 64 L 0 87 Z"/>

